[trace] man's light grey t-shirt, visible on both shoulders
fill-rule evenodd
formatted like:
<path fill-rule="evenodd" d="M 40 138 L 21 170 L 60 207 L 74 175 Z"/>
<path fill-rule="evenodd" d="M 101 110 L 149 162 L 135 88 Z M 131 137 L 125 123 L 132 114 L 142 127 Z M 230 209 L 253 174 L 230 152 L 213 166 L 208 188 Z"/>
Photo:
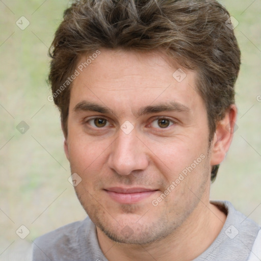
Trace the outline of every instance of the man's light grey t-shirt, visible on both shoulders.
<path fill-rule="evenodd" d="M 260 227 L 228 201 L 212 201 L 227 214 L 216 240 L 194 261 L 246 261 Z M 108 261 L 103 255 L 94 223 L 87 217 L 60 227 L 33 242 L 33 261 Z"/>

